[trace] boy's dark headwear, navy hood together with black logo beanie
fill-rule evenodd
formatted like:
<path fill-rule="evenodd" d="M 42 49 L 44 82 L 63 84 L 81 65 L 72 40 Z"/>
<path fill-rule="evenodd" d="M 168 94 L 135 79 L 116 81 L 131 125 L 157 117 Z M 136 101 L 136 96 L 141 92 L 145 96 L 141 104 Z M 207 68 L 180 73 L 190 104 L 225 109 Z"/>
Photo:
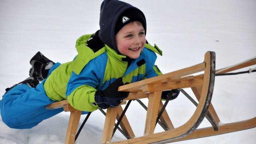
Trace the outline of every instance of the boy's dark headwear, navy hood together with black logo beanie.
<path fill-rule="evenodd" d="M 104 0 L 100 6 L 100 40 L 120 54 L 115 35 L 132 21 L 141 22 L 146 34 L 146 18 L 141 10 L 119 0 Z"/>

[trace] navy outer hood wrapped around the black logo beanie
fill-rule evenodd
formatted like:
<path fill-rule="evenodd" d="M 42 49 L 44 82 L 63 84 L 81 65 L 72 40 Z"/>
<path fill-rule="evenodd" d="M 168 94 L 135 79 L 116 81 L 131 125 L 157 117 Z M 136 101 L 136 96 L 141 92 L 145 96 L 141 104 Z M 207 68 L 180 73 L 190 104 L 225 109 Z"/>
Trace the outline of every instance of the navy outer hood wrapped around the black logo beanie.
<path fill-rule="evenodd" d="M 146 18 L 141 10 L 138 8 L 119 0 L 104 0 L 100 6 L 100 32 L 99 38 L 104 44 L 114 49 L 118 54 L 116 46 L 115 28 L 116 22 L 120 15 L 127 9 L 135 9 L 141 12 L 145 19 L 145 34 L 146 34 Z"/>

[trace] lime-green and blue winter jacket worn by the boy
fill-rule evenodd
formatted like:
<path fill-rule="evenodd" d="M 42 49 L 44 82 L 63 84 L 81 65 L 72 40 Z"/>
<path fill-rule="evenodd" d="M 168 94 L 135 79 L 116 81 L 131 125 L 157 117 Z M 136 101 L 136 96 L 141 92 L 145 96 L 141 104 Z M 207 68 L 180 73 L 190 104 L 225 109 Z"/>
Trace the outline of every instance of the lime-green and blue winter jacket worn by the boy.
<path fill-rule="evenodd" d="M 132 83 L 162 74 L 154 64 L 156 53 L 162 56 L 156 45 L 145 44 L 139 58 L 128 66 L 126 56 L 117 54 L 106 44 L 97 52 L 86 46 L 91 36 L 81 36 L 76 41 L 76 58 L 61 64 L 48 76 L 44 89 L 50 99 L 67 99 L 77 110 L 92 112 L 98 109 L 93 104 L 96 90 L 104 90 L 117 78 L 122 77 L 124 83 Z"/>

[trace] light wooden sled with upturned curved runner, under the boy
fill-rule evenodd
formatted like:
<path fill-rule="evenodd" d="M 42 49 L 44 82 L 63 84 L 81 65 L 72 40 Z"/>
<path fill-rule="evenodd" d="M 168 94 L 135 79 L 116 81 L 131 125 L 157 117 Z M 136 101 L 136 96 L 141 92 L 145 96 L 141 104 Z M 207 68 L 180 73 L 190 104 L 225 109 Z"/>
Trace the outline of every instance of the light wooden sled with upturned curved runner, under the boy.
<path fill-rule="evenodd" d="M 118 106 L 116 108 L 107 109 L 101 143 L 164 144 L 168 142 L 225 134 L 256 127 L 256 117 L 241 122 L 222 124 L 216 111 L 214 110 L 213 105 L 211 104 L 215 75 L 227 74 L 227 72 L 255 64 L 256 57 L 233 66 L 215 70 L 215 53 L 206 52 L 203 63 L 163 74 L 161 76 L 120 86 L 118 89 L 119 91 L 130 91 L 128 98 L 125 99 L 129 100 L 127 105 L 130 104 L 130 100 L 138 100 L 138 102 L 140 102 L 139 99 L 148 98 L 144 136 L 135 137 L 128 119 L 123 112 L 126 111 L 126 108 L 123 110 L 121 106 Z M 249 72 L 254 71 L 255 70 L 250 70 Z M 195 76 L 192 75 L 198 72 L 203 73 Z M 198 99 L 198 104 L 192 100 L 192 98 L 183 90 L 183 88 L 192 89 L 192 92 Z M 165 110 L 165 104 L 163 104 L 161 101 L 162 91 L 172 89 L 180 89 L 181 92 L 196 105 L 196 110 L 191 118 L 185 124 L 177 128 L 174 128 L 171 119 Z M 72 108 L 70 104 L 68 104 L 67 100 L 55 102 L 46 106 L 48 109 L 61 107 L 63 107 L 65 111 L 71 112 L 65 143 L 73 144 L 81 111 Z M 159 113 L 162 114 L 159 115 Z M 197 129 L 205 117 L 207 120 L 209 120 L 212 126 Z M 120 127 L 122 128 L 124 134 L 127 135 L 127 140 L 111 142 L 113 133 L 116 129 L 116 127 L 114 128 L 116 120 L 118 120 L 118 123 L 120 123 Z M 156 122 L 159 122 L 165 131 L 154 133 Z"/>

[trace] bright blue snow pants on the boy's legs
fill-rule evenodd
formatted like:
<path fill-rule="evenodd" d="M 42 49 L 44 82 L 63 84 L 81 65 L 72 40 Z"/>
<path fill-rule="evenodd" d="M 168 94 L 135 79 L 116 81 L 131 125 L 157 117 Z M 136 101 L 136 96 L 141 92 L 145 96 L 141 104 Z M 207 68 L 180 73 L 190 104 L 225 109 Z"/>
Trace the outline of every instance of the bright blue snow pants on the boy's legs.
<path fill-rule="evenodd" d="M 58 66 L 60 63 L 54 64 L 49 70 L 48 76 Z M 0 112 L 2 120 L 7 126 L 16 129 L 32 128 L 43 120 L 63 111 L 63 108 L 56 110 L 45 108 L 46 105 L 56 102 L 46 95 L 45 80 L 36 88 L 19 84 L 4 94 L 0 100 Z"/>

